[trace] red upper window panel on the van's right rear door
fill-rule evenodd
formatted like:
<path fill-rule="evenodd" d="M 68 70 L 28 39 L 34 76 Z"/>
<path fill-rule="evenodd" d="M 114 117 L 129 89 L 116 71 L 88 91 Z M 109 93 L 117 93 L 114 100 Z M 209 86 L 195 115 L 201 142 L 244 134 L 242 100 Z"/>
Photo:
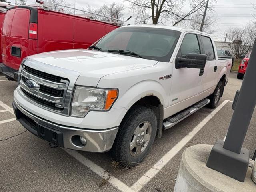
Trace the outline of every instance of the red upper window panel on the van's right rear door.
<path fill-rule="evenodd" d="M 17 38 L 28 38 L 28 24 L 30 18 L 30 10 L 16 9 L 13 20 L 11 36 Z"/>

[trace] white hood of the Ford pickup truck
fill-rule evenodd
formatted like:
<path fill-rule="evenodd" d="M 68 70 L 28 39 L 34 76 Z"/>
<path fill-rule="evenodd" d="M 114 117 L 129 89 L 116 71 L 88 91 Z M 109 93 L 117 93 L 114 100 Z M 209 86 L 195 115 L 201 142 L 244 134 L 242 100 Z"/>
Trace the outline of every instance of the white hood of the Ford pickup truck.
<path fill-rule="evenodd" d="M 97 86 L 108 74 L 136 70 L 155 65 L 158 61 L 112 54 L 96 50 L 72 49 L 28 56 L 32 60 L 80 73 L 76 84 Z"/>

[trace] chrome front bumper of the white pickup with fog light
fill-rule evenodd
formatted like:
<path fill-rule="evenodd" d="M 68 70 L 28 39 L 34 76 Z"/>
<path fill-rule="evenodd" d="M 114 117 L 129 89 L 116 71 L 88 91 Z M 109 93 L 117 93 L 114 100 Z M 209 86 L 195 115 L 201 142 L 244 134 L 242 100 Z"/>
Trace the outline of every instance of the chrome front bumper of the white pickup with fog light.
<path fill-rule="evenodd" d="M 12 105 L 17 120 L 29 132 L 60 147 L 88 152 L 106 152 L 112 148 L 118 132 L 118 127 L 89 130 L 62 126 L 28 112 L 15 101 Z M 86 145 L 81 146 L 80 136 L 86 138 Z"/>

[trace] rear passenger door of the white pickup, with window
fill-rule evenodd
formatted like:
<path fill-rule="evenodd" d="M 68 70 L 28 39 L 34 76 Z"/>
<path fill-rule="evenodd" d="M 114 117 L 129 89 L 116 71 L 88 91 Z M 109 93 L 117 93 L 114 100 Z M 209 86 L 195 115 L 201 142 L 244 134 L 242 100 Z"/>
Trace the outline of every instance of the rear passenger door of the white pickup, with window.
<path fill-rule="evenodd" d="M 214 53 L 212 40 L 208 36 L 200 36 L 202 42 L 202 54 L 207 55 L 204 74 L 202 75 L 202 91 L 206 91 L 216 84 L 218 61 Z"/>

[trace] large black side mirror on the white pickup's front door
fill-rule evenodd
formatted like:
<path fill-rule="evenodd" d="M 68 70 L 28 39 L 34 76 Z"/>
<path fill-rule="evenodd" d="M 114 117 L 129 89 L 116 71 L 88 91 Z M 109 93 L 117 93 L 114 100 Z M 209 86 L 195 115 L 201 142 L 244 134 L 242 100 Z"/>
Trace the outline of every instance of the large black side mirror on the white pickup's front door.
<path fill-rule="evenodd" d="M 203 69 L 205 67 L 207 56 L 205 54 L 189 53 L 186 58 L 178 57 L 176 60 L 176 66 L 178 68 L 196 68 Z"/>

